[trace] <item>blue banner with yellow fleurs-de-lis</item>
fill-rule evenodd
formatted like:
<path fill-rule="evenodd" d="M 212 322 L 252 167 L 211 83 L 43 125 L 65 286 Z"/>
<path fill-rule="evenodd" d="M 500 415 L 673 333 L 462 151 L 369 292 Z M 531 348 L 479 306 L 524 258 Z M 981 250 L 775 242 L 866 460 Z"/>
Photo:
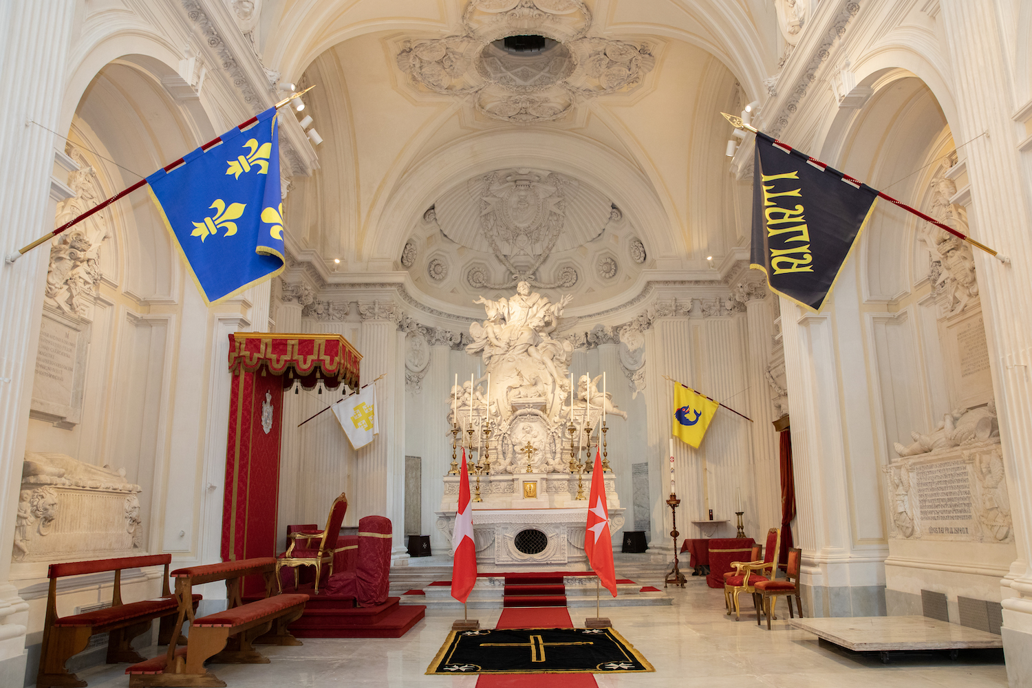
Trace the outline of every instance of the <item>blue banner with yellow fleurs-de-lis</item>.
<path fill-rule="evenodd" d="M 283 203 L 276 108 L 147 182 L 208 304 L 283 271 Z"/>

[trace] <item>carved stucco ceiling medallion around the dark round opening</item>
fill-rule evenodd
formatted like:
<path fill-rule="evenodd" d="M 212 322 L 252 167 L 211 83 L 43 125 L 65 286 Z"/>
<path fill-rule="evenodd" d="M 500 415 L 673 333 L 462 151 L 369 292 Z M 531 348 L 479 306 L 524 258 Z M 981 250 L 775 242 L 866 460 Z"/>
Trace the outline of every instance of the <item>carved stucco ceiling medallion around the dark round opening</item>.
<path fill-rule="evenodd" d="M 580 0 L 471 0 L 460 34 L 406 40 L 396 60 L 417 87 L 470 97 L 487 117 L 547 122 L 578 100 L 634 90 L 655 66 L 648 45 L 588 38 L 590 27 Z M 540 43 L 510 47 L 511 36 Z"/>

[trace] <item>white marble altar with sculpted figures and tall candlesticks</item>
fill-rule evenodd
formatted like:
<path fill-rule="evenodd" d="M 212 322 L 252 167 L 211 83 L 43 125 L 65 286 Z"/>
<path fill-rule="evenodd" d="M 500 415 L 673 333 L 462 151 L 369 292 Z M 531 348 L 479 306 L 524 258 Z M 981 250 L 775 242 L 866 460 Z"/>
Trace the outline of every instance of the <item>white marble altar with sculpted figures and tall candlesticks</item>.
<path fill-rule="evenodd" d="M 481 563 L 583 565 L 590 469 L 605 451 L 607 418 L 626 414 L 602 375 L 570 374 L 573 346 L 551 336 L 570 300 L 552 303 L 520 282 L 516 294 L 480 297 L 487 319 L 473 323 L 466 352 L 485 372 L 451 390 L 453 443 L 467 447 L 474 539 Z M 599 384 L 603 383 L 603 389 Z M 438 528 L 451 535 L 458 470 L 444 477 Z M 610 532 L 623 527 L 615 479 L 606 474 Z M 531 532 L 536 531 L 536 532 Z M 521 535 L 521 533 L 524 533 Z M 533 546 L 524 545 L 530 538 Z"/>

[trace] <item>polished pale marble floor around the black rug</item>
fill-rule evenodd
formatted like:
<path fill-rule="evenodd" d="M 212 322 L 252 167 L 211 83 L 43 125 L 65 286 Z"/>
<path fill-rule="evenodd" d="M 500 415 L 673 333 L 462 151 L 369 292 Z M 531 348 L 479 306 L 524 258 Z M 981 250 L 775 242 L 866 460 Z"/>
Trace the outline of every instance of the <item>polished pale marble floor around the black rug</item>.
<path fill-rule="evenodd" d="M 655 666 L 655 674 L 596 677 L 601 688 L 981 688 L 1006 686 L 999 651 L 966 651 L 950 661 L 945 654 L 913 655 L 883 665 L 864 656 L 818 643 L 816 636 L 778 619 L 767 630 L 755 617 L 735 622 L 723 613 L 723 595 L 701 579 L 672 593 L 672 607 L 608 608 L 605 616 Z M 779 605 L 780 610 L 783 607 Z M 749 609 L 751 612 L 751 608 Z M 594 610 L 573 609 L 582 625 Z M 493 627 L 501 610 L 477 610 L 481 624 Z M 305 640 L 302 647 L 268 647 L 270 664 L 212 665 L 229 688 L 323 686 L 438 686 L 474 688 L 476 677 L 424 676 L 454 619 L 452 611 L 432 611 L 398 640 Z M 91 688 L 126 688 L 125 665 L 80 671 Z"/>

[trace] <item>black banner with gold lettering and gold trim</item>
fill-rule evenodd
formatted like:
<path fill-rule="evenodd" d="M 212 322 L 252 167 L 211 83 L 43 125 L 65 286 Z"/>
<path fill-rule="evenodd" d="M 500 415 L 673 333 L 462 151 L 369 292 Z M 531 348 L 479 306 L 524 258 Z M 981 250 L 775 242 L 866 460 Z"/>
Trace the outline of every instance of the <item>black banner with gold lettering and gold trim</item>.
<path fill-rule="evenodd" d="M 878 192 L 763 133 L 753 169 L 752 267 L 772 291 L 819 310 Z"/>

